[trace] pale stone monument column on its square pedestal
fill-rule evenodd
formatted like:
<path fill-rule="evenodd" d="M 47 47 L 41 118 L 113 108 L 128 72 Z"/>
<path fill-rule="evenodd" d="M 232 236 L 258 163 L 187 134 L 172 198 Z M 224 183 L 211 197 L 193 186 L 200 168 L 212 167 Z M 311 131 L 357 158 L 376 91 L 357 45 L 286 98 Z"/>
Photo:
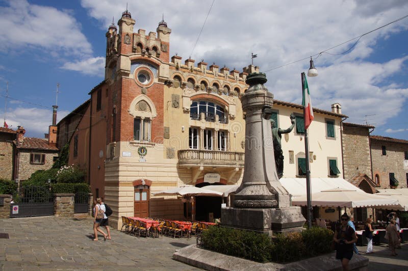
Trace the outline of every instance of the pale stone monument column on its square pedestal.
<path fill-rule="evenodd" d="M 279 182 L 270 128 L 273 94 L 263 85 L 264 73 L 246 78 L 249 89 L 242 95 L 245 115 L 245 165 L 234 207 L 221 209 L 225 227 L 243 228 L 272 235 L 299 231 L 305 222 L 300 207 L 291 207 L 289 193 Z"/>

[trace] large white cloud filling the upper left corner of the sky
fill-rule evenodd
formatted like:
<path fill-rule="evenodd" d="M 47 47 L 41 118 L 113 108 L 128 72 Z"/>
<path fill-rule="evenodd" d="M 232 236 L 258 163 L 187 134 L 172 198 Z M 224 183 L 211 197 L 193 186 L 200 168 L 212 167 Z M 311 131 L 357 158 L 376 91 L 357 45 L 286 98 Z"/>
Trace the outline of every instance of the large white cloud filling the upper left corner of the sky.
<path fill-rule="evenodd" d="M 92 53 L 91 44 L 72 12 L 33 5 L 26 0 L 8 4 L 0 7 L 0 50 L 35 47 L 70 56 Z"/>

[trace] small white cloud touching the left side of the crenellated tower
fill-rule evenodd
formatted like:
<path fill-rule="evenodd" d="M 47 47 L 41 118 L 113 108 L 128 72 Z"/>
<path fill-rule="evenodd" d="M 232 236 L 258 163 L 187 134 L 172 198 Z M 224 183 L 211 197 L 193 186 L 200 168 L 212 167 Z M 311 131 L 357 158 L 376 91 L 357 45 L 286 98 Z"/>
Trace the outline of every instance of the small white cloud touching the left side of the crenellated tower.
<path fill-rule="evenodd" d="M 67 62 L 61 68 L 103 77 L 105 75 L 105 58 L 96 57 L 82 61 Z"/>

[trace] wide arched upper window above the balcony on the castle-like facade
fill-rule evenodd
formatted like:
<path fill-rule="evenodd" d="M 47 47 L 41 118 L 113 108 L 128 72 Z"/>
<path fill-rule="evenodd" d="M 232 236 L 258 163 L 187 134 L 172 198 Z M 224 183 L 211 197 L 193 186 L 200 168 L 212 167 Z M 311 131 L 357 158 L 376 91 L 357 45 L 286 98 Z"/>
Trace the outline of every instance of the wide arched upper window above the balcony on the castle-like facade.
<path fill-rule="evenodd" d="M 215 116 L 217 115 L 220 123 L 227 123 L 225 110 L 222 105 L 211 101 L 193 101 L 190 106 L 190 118 L 198 120 L 201 113 L 205 114 L 206 121 L 215 122 Z"/>

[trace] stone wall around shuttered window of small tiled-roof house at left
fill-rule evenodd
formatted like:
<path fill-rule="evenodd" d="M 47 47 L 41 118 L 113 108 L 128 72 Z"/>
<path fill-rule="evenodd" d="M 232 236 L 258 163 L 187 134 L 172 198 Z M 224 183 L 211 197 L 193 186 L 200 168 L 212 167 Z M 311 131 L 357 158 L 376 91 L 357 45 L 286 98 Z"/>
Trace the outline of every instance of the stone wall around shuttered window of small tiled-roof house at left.
<path fill-rule="evenodd" d="M 32 152 L 45 154 L 45 162 L 43 165 L 30 164 L 30 155 Z M 27 180 L 28 178 L 30 178 L 31 174 L 33 174 L 37 170 L 50 169 L 54 164 L 54 156 L 58 156 L 58 151 L 47 152 L 44 150 L 19 150 L 18 179 Z"/>

